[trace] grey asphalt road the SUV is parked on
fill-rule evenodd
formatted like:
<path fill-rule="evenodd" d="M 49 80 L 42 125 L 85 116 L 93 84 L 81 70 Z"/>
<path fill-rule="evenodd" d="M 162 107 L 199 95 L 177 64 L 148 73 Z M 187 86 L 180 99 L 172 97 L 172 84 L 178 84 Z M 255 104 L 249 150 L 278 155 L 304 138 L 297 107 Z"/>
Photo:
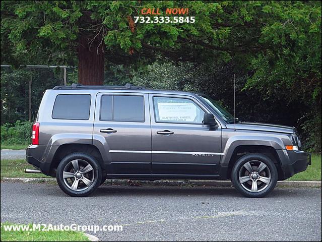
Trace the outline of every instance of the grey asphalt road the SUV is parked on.
<path fill-rule="evenodd" d="M 244 198 L 233 188 L 101 186 L 87 198 L 57 185 L 1 183 L 1 221 L 123 225 L 100 240 L 321 240 L 321 188 L 276 188 Z"/>

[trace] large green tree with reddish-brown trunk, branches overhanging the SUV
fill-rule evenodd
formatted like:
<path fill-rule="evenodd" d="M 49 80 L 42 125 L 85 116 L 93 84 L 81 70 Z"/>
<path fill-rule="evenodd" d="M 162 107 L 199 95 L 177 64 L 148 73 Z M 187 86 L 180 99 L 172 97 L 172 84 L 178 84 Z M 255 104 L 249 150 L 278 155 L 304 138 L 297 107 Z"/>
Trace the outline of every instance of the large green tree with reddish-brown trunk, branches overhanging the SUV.
<path fill-rule="evenodd" d="M 189 8 L 196 23 L 133 23 L 142 8 L 173 7 Z M 314 49 L 320 11 L 320 2 L 293 1 L 3 1 L 2 63 L 26 64 L 37 54 L 46 63 L 78 63 L 84 84 L 103 83 L 104 60 L 142 64 L 155 54 L 199 63 L 238 56 L 251 67 L 285 49 L 293 58 L 303 41 Z"/>

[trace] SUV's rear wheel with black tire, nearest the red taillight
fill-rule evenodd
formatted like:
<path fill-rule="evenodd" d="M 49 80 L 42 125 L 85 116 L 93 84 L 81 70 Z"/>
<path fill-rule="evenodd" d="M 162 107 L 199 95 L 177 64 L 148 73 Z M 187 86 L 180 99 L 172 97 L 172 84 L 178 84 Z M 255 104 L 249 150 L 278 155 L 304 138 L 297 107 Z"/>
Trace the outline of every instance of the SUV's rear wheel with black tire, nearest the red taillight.
<path fill-rule="evenodd" d="M 82 191 L 72 190 L 72 188 L 70 188 L 67 185 L 68 180 L 66 178 L 64 180 L 64 178 L 63 178 L 64 169 L 66 169 L 67 167 L 72 167 L 72 169 L 74 168 L 74 164 L 72 164 L 72 166 L 71 166 L 71 162 L 72 161 L 74 162 L 74 160 L 77 160 L 77 164 L 79 165 L 79 170 L 80 171 L 82 171 L 82 169 L 84 170 L 84 168 L 85 168 L 85 167 L 81 166 L 81 164 L 80 164 L 81 162 L 83 162 L 83 164 L 84 164 L 83 166 L 85 166 L 86 164 L 90 164 L 90 166 L 92 168 L 89 171 L 89 172 L 91 172 L 91 174 L 90 174 L 91 175 L 91 180 L 90 180 L 91 184 L 89 186 L 86 186 L 86 184 L 83 182 L 83 178 L 84 179 L 86 178 L 86 177 L 83 177 L 83 175 L 85 176 L 85 174 L 82 174 L 83 178 L 82 177 L 78 178 L 79 181 L 77 183 L 76 189 L 79 186 L 83 185 L 83 188 L 80 188 L 80 190 L 84 189 Z M 73 172 L 74 171 L 69 172 L 69 173 L 72 174 Z M 86 196 L 90 195 L 91 193 L 93 193 L 98 188 L 98 186 L 100 185 L 101 180 L 102 180 L 102 169 L 101 169 L 100 164 L 98 163 L 98 161 L 93 156 L 90 156 L 90 155 L 84 154 L 84 153 L 72 153 L 72 154 L 69 154 L 66 157 L 64 157 L 60 161 L 60 163 L 58 164 L 57 171 L 56 171 L 56 179 L 57 179 L 57 183 L 58 183 L 60 189 L 64 193 L 66 193 L 66 194 L 68 194 L 68 195 L 70 195 L 72 197 L 86 197 Z M 70 181 L 72 183 L 73 179 L 76 179 L 76 178 L 71 177 L 69 179 L 70 179 Z"/>

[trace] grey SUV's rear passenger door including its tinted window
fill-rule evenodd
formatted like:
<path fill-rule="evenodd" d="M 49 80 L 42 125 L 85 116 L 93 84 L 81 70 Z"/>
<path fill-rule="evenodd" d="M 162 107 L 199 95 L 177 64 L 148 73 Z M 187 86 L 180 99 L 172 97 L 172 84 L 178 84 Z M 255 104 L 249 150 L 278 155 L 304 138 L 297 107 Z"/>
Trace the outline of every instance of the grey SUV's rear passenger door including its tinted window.
<path fill-rule="evenodd" d="M 93 141 L 104 149 L 108 174 L 151 174 L 148 94 L 100 92 Z"/>

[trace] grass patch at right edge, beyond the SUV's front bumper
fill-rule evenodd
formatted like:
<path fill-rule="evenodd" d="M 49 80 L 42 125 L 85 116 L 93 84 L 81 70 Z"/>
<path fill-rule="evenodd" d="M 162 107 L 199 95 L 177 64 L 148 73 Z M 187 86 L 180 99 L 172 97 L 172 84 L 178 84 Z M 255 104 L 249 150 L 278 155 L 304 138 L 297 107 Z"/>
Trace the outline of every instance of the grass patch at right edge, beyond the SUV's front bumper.
<path fill-rule="evenodd" d="M 293 175 L 288 180 L 321 180 L 321 155 L 312 154 L 311 162 L 305 171 Z"/>

